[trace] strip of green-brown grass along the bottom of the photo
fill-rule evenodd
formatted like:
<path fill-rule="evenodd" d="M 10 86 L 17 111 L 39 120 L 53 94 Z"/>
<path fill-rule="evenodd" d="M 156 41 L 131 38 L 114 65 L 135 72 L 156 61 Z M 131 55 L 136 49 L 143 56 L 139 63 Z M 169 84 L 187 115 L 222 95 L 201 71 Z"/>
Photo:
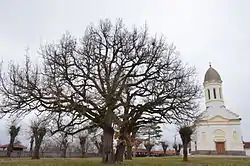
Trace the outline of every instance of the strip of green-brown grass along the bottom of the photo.
<path fill-rule="evenodd" d="M 0 159 L 0 166 L 103 166 L 100 159 Z M 178 157 L 135 158 L 119 166 L 250 166 L 250 158 L 190 158 L 183 162 Z"/>

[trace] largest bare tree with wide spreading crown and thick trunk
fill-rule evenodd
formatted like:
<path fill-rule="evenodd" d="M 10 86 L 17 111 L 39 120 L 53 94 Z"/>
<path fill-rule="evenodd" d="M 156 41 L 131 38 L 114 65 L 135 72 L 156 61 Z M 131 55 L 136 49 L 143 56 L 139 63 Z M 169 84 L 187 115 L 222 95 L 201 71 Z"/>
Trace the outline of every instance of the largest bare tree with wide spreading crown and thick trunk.
<path fill-rule="evenodd" d="M 103 129 L 105 163 L 114 162 L 114 125 L 125 131 L 129 117 L 135 123 L 140 117 L 171 121 L 193 115 L 199 93 L 195 70 L 147 28 L 128 30 L 120 20 L 104 20 L 88 27 L 81 40 L 67 33 L 40 53 L 43 66 L 27 57 L 24 67 L 11 64 L 5 76 L 1 72 L 1 113 L 37 110 L 90 120 Z"/>

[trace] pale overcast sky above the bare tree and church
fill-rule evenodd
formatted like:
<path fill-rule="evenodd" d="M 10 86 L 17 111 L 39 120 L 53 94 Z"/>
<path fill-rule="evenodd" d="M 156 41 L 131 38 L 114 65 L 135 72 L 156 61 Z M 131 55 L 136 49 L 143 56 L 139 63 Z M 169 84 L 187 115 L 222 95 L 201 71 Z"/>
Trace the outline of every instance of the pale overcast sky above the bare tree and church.
<path fill-rule="evenodd" d="M 37 59 L 40 44 L 66 31 L 81 37 L 100 19 L 122 18 L 128 27 L 146 22 L 152 35 L 167 37 L 197 68 L 201 83 L 212 62 L 223 80 L 225 105 L 241 115 L 244 140 L 250 141 L 249 8 L 249 0 L 0 0 L 0 58 L 22 62 L 29 47 Z M 6 124 L 0 122 L 1 143 L 8 140 Z M 165 130 L 170 141 L 173 135 Z"/>

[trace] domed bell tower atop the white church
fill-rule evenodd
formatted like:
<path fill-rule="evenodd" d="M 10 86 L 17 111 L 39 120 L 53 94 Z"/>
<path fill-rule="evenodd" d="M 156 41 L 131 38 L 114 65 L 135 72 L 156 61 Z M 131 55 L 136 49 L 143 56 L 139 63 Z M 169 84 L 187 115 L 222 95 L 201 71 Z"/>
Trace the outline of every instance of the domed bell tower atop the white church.
<path fill-rule="evenodd" d="M 224 106 L 222 80 L 219 73 L 212 68 L 211 63 L 205 74 L 203 86 L 207 108 Z"/>

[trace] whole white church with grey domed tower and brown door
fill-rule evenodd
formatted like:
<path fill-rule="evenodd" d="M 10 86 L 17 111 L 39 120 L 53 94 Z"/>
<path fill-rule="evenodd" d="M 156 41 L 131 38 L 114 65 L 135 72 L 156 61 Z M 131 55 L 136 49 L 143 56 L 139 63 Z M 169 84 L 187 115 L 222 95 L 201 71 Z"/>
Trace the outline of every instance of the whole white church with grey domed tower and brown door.
<path fill-rule="evenodd" d="M 239 115 L 224 105 L 222 80 L 211 67 L 204 79 L 206 110 L 197 124 L 191 154 L 245 155 Z"/>

